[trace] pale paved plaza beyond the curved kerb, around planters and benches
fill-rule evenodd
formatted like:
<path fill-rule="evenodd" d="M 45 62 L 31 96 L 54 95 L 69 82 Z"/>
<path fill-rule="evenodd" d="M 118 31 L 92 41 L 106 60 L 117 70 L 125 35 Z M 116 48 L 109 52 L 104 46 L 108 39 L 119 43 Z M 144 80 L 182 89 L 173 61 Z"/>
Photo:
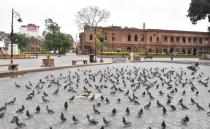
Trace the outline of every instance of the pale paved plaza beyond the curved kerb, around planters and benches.
<path fill-rule="evenodd" d="M 52 59 L 54 59 L 55 67 L 61 67 L 61 66 L 71 66 L 72 60 L 88 60 L 89 61 L 89 55 L 75 55 L 74 53 L 69 53 L 65 56 L 52 56 Z M 46 59 L 46 56 L 39 56 L 35 59 L 14 59 L 15 64 L 19 64 L 19 70 L 29 70 L 29 69 L 38 69 L 38 68 L 44 68 L 42 66 L 42 59 Z M 112 58 L 103 58 L 105 63 L 112 63 Z M 97 58 L 98 63 L 100 62 L 100 58 Z M 157 61 L 157 62 L 168 62 L 170 61 L 170 58 L 153 58 L 153 59 L 144 59 L 141 58 L 141 61 Z M 189 62 L 205 62 L 210 65 L 210 61 L 202 61 L 198 58 L 174 58 L 174 62 L 178 63 L 189 63 Z M 0 59 L 0 65 L 3 64 L 10 64 L 10 59 Z M 77 64 L 83 64 L 82 62 L 78 62 Z M 90 64 L 90 62 L 88 62 Z M 8 67 L 0 67 L 0 72 L 7 71 Z"/>

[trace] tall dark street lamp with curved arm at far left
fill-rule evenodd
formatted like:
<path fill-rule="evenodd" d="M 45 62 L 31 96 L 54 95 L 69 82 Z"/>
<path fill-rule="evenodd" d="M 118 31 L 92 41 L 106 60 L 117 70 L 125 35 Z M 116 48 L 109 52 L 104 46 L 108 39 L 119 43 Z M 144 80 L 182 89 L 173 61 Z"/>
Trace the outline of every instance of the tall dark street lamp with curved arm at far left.
<path fill-rule="evenodd" d="M 17 18 L 18 22 L 22 22 L 22 19 L 20 18 L 20 14 L 18 12 L 15 12 L 12 8 L 12 23 L 11 23 L 11 34 L 10 34 L 10 41 L 11 41 L 11 64 L 13 64 L 13 42 L 15 41 L 15 35 L 13 30 L 13 19 Z"/>

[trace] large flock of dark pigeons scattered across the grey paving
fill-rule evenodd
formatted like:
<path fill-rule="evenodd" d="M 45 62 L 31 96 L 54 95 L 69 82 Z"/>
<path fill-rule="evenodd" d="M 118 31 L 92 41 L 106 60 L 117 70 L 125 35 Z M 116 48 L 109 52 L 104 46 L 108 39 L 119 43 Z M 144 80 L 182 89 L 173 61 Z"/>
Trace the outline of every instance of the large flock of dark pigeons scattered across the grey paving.
<path fill-rule="evenodd" d="M 66 74 L 15 82 L 13 88 L 22 92 L 24 100 L 21 98 L 18 108 L 16 94 L 0 102 L 0 123 L 14 128 L 30 128 L 30 121 L 36 118 L 40 119 L 38 125 L 49 125 L 45 119 L 56 121 L 48 129 L 62 128 L 59 125 L 63 124 L 72 129 L 167 129 L 175 124 L 167 120 L 173 117 L 181 127 L 187 127 L 201 112 L 210 119 L 210 100 L 203 102 L 210 94 L 209 77 L 200 71 L 198 63 L 188 67 L 115 64 L 70 69 Z M 176 116 L 177 112 L 181 114 Z M 38 117 L 41 114 L 44 117 Z M 154 126 L 150 124 L 152 118 L 158 121 Z"/>

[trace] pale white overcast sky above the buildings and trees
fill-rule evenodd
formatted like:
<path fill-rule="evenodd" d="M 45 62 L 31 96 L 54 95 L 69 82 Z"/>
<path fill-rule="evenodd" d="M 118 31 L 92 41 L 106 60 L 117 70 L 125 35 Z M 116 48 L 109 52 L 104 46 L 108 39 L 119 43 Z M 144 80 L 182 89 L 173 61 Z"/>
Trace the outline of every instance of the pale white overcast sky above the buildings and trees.
<path fill-rule="evenodd" d="M 0 31 L 10 32 L 11 9 L 21 14 L 23 22 L 15 22 L 15 31 L 20 25 L 34 23 L 42 34 L 44 20 L 52 18 L 61 26 L 61 31 L 74 39 L 81 31 L 75 24 L 76 13 L 87 6 L 99 6 L 111 13 L 102 26 L 142 28 L 143 22 L 150 29 L 207 31 L 208 21 L 192 25 L 186 17 L 191 0 L 1 0 Z"/>

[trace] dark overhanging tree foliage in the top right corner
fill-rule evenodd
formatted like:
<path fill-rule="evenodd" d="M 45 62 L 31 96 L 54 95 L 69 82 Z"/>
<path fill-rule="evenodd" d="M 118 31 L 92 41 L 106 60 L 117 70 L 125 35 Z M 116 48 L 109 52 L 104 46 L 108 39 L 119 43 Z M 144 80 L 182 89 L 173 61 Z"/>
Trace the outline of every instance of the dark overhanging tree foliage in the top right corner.
<path fill-rule="evenodd" d="M 193 24 L 197 24 L 199 20 L 206 19 L 210 22 L 210 0 L 191 0 L 188 15 Z M 210 32 L 210 27 L 208 27 Z"/>

